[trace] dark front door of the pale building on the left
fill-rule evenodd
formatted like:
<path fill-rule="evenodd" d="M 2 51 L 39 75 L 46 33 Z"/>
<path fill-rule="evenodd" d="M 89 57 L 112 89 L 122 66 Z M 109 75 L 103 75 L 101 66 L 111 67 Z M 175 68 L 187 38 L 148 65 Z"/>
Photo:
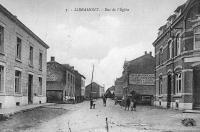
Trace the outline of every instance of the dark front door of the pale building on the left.
<path fill-rule="evenodd" d="M 33 75 L 28 75 L 28 104 L 33 103 Z"/>

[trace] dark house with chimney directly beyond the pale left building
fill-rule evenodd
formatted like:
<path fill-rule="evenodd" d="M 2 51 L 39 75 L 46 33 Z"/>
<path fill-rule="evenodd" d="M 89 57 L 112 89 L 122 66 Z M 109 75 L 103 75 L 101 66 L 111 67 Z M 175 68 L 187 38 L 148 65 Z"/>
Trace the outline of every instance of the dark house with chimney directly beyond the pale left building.
<path fill-rule="evenodd" d="M 47 62 L 47 101 L 65 102 L 67 99 L 75 99 L 74 69 L 51 57 L 51 61 Z"/>

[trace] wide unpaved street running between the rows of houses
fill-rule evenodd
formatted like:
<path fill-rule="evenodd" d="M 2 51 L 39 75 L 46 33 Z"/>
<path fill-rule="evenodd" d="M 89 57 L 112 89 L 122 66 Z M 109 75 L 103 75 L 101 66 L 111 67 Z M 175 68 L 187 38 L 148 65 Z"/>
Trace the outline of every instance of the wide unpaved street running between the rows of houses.
<path fill-rule="evenodd" d="M 134 131 L 200 131 L 200 114 L 183 114 L 179 111 L 138 106 L 137 111 L 125 111 L 113 100 L 96 109 L 89 109 L 89 102 L 80 104 L 57 104 L 18 113 L 7 121 L 0 122 L 1 131 L 20 132 L 106 132 L 106 117 L 109 132 Z M 185 127 L 181 120 L 190 117 L 197 121 L 195 127 Z"/>

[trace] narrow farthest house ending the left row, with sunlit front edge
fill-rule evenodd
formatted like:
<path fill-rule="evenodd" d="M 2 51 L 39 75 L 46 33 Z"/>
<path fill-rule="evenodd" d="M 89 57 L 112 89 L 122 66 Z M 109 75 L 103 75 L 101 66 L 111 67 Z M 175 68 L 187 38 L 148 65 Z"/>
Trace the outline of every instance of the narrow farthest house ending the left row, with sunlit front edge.
<path fill-rule="evenodd" d="M 75 70 L 75 100 L 81 102 L 84 99 L 85 77 Z"/>

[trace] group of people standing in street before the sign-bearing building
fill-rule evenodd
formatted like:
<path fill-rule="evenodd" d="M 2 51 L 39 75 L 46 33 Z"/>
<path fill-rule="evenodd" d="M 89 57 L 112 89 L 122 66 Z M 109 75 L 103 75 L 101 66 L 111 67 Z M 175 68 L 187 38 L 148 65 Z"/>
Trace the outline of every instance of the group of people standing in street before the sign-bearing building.
<path fill-rule="evenodd" d="M 127 97 L 125 99 L 125 110 L 126 109 L 129 110 L 130 107 L 131 107 L 131 111 L 136 111 L 136 99 Z"/>

